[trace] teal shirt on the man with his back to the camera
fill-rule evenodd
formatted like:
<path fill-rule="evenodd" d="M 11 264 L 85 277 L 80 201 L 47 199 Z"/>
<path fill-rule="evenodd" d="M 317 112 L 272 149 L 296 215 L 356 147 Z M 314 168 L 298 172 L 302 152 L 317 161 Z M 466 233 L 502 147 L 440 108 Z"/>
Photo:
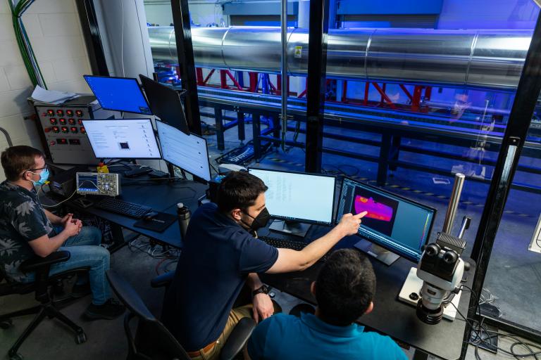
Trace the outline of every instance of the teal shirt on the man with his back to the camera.
<path fill-rule="evenodd" d="M 251 360 L 407 360 L 388 336 L 365 332 L 356 323 L 333 326 L 312 314 L 277 314 L 262 321 L 248 341 Z"/>

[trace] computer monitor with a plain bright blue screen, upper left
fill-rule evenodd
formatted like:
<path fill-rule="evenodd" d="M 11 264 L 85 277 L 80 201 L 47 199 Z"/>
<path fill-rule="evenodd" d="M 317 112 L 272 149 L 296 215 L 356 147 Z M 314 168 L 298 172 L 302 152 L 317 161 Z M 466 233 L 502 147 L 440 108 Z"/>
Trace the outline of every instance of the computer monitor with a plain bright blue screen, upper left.
<path fill-rule="evenodd" d="M 101 108 L 152 115 L 137 79 L 84 75 Z"/>

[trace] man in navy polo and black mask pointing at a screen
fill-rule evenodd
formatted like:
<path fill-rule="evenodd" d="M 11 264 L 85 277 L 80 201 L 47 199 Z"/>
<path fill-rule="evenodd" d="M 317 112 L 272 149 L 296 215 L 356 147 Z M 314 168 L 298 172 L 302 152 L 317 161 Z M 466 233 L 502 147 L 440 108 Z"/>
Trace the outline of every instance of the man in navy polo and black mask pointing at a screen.
<path fill-rule="evenodd" d="M 301 251 L 277 249 L 256 238 L 270 218 L 266 190 L 256 176 L 232 172 L 220 182 L 217 204 L 202 205 L 189 222 L 161 319 L 192 359 L 216 359 L 242 317 L 259 321 L 273 314 L 257 273 L 308 268 L 344 236 L 356 233 L 366 214 L 344 215 Z M 244 284 L 252 290 L 252 304 L 234 309 Z"/>

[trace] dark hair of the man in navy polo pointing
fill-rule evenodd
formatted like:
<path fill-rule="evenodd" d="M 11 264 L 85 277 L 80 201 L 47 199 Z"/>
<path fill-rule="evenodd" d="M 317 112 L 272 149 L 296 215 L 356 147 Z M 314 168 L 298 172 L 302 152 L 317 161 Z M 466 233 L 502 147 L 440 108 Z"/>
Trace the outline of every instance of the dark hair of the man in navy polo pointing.
<path fill-rule="evenodd" d="M 259 194 L 267 189 L 257 176 L 247 172 L 230 172 L 220 181 L 218 187 L 218 209 L 221 212 L 230 212 L 237 208 L 246 210 L 254 205 Z"/>

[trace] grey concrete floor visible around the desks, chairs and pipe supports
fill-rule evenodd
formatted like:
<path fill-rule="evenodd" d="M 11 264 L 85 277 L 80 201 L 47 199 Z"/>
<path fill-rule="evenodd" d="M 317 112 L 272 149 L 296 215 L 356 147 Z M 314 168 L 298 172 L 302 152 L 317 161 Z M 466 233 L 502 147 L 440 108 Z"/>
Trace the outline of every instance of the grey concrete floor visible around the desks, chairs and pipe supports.
<path fill-rule="evenodd" d="M 206 119 L 209 124 L 212 119 Z M 251 138 L 251 127 L 247 125 L 247 140 Z M 216 137 L 209 136 L 209 150 L 211 158 L 215 159 L 220 152 L 216 149 Z M 228 149 L 239 145 L 236 129 L 230 129 L 226 132 L 226 146 Z M 299 141 L 303 137 L 299 136 Z M 347 148 L 349 150 L 374 152 L 373 148 L 361 148 L 360 145 L 347 143 L 325 143 L 325 146 L 334 146 L 335 148 Z M 288 163 L 276 162 L 273 159 L 287 159 Z M 422 161 L 432 161 L 435 165 L 444 168 L 450 168 L 453 164 L 437 159 L 423 158 Z M 328 171 L 340 166 L 342 170 L 356 176 L 375 179 L 376 167 L 368 162 L 354 161 L 345 158 L 339 158 L 332 155 L 323 156 L 323 168 Z M 539 166 L 539 164 L 536 164 Z M 289 153 L 283 153 L 281 150 L 267 155 L 261 160 L 261 166 L 269 168 L 284 168 L 302 171 L 304 166 L 304 152 L 299 149 L 292 149 Z M 433 174 L 406 171 L 398 169 L 394 176 L 389 178 L 389 183 L 397 185 L 392 191 L 404 195 L 413 200 L 418 200 L 427 205 L 438 209 L 439 214 L 435 221 L 433 236 L 435 232 L 441 229 L 444 211 L 447 207 L 447 200 L 437 198 L 437 195 L 449 195 L 452 188 L 452 179 L 450 184 L 435 184 Z M 404 190 L 403 187 L 409 187 L 411 190 Z M 423 193 L 415 192 L 421 190 Z M 435 195 L 426 195 L 425 193 L 434 193 Z M 478 184 L 468 184 L 464 188 L 463 199 L 467 203 L 461 203 L 457 219 L 462 215 L 468 214 L 473 218 L 471 229 L 466 235 L 468 240 L 468 250 L 471 251 L 475 233 L 477 232 L 480 214 L 483 210 L 487 186 Z M 541 255 L 526 251 L 528 243 L 533 233 L 533 228 L 537 221 L 537 216 L 541 212 L 541 196 L 525 194 L 511 191 L 507 214 L 502 219 L 499 227 L 499 233 L 492 250 L 492 259 L 485 281 L 485 288 L 494 295 L 493 304 L 502 312 L 502 318 L 521 323 L 541 331 L 541 307 L 539 299 L 541 298 Z M 511 212 L 512 211 L 512 212 Z M 156 265 L 158 259 L 153 259 L 143 252 L 130 250 L 125 247 L 111 256 L 111 267 L 116 269 L 119 274 L 132 283 L 137 293 L 141 295 L 151 312 L 159 314 L 163 290 L 153 289 L 149 286 L 149 281 L 156 275 Z M 166 268 L 172 270 L 174 264 L 164 262 L 158 271 L 162 273 Z M 299 300 L 290 297 L 287 294 L 278 293 L 277 300 L 282 309 L 287 312 Z M 46 320 L 20 348 L 20 354 L 25 359 L 123 359 L 127 354 L 125 334 L 123 330 L 123 320 L 114 321 L 94 321 L 85 322 L 80 319 L 80 314 L 89 304 L 89 297 L 77 300 L 63 308 L 63 312 L 75 320 L 85 329 L 88 335 L 88 341 L 82 345 L 75 345 L 73 335 L 56 321 Z M 0 297 L 0 311 L 2 313 L 30 307 L 35 304 L 32 295 L 9 297 Z M 13 341 L 32 319 L 31 316 L 25 316 L 13 321 L 14 326 L 8 330 L 0 330 L 0 359 L 8 351 Z M 500 346 L 509 349 L 514 342 L 510 339 L 502 338 Z M 522 349 L 517 349 L 522 351 Z M 412 352 L 409 352 L 411 359 Z M 512 356 L 502 354 L 496 356 L 483 350 L 480 350 L 482 359 L 511 359 Z M 7 358 L 6 358 L 7 359 Z M 473 347 L 470 347 L 466 359 L 475 359 Z M 525 358 L 528 359 L 528 358 Z"/>

